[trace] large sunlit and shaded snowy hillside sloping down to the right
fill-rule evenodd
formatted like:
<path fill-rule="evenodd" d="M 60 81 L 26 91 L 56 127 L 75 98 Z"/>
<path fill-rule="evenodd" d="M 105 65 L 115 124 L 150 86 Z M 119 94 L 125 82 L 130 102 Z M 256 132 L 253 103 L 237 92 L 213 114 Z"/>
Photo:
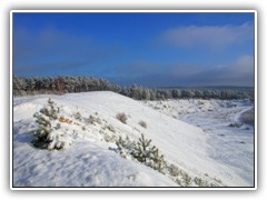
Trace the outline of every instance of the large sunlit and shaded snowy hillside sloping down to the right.
<path fill-rule="evenodd" d="M 61 150 L 31 143 L 38 128 L 33 114 L 48 98 L 60 109 L 57 131 L 68 136 L 70 146 Z M 214 108 L 209 102 L 200 104 L 202 111 Z M 126 123 L 118 113 L 126 114 Z M 235 168 L 210 157 L 209 132 L 174 114 L 174 110 L 159 111 L 148 102 L 106 91 L 14 98 L 13 187 L 250 186 Z M 164 154 L 167 167 L 161 172 L 118 153 L 120 137 L 138 141 L 141 134 Z"/>

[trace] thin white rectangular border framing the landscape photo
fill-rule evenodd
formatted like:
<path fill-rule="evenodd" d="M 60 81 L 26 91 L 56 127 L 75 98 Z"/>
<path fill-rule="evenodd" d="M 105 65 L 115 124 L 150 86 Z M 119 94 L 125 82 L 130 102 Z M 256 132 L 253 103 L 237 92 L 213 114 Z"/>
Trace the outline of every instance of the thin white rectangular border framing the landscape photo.
<path fill-rule="evenodd" d="M 12 76 L 13 76 L 13 13 L 254 13 L 254 92 L 255 92 L 255 128 L 254 128 L 254 187 L 221 187 L 221 188 L 195 188 L 195 187 L 188 187 L 188 188 L 166 188 L 166 187 L 13 187 L 13 93 L 12 93 Z M 11 190 L 257 190 L 257 174 L 258 174 L 258 152 L 257 152 L 257 140 L 258 140 L 258 130 L 257 130 L 257 109 L 258 109 L 258 86 L 257 86 L 257 69 L 258 69 L 258 50 L 257 50 L 257 43 L 258 43 L 258 33 L 257 33 L 257 10 L 11 10 L 10 11 L 10 189 Z"/>

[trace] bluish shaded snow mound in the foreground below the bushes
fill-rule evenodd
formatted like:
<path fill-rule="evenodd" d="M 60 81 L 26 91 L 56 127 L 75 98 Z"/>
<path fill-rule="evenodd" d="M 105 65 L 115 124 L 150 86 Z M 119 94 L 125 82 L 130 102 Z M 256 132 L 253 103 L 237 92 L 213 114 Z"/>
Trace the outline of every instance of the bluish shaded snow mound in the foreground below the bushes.
<path fill-rule="evenodd" d="M 27 157 L 21 160 L 22 150 Z M 16 149 L 13 157 L 19 163 L 13 174 L 17 187 L 175 186 L 162 174 L 88 141 L 63 151 L 37 151 L 24 146 Z"/>

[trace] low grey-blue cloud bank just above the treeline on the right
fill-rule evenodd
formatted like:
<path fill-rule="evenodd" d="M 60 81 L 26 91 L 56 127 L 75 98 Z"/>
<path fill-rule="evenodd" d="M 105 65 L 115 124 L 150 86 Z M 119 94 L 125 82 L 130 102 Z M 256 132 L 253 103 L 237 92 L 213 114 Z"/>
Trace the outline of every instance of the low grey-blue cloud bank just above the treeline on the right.
<path fill-rule="evenodd" d="M 147 87 L 254 86 L 254 58 L 251 56 L 243 56 L 224 67 L 136 62 L 117 70 L 117 78 L 111 79 L 126 86 L 132 83 Z"/>

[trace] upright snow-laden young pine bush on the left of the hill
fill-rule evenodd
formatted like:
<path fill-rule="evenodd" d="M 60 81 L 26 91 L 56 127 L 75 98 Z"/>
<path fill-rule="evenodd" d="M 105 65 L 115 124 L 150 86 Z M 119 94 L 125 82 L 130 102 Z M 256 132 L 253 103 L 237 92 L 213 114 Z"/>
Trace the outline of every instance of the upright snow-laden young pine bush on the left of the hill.
<path fill-rule="evenodd" d="M 49 150 L 63 149 L 72 142 L 71 137 L 61 130 L 58 121 L 59 111 L 59 107 L 49 98 L 48 104 L 33 114 L 38 123 L 38 128 L 33 131 L 34 147 Z"/>

